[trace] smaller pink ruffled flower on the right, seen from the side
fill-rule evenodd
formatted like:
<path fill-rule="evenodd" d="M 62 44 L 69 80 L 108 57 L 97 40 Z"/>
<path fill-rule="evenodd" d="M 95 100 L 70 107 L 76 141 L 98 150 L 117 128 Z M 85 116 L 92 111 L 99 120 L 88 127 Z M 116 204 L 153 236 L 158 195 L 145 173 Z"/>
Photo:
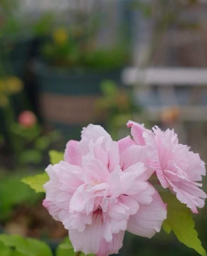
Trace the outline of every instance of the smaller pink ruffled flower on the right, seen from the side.
<path fill-rule="evenodd" d="M 205 164 L 199 154 L 189 151 L 189 147 L 178 143 L 174 130 L 161 131 L 158 126 L 151 130 L 129 121 L 131 134 L 137 145 L 147 148 L 148 165 L 156 171 L 159 182 L 169 188 L 180 202 L 197 213 L 197 207 L 204 206 L 207 195 L 198 181 L 205 175 Z"/>

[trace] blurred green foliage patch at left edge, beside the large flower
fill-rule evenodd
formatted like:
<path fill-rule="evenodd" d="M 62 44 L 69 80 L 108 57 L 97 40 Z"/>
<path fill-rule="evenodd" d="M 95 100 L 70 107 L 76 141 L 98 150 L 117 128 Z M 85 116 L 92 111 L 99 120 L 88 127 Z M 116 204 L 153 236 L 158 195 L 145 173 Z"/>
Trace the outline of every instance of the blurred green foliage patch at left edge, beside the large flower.
<path fill-rule="evenodd" d="M 0 219 L 5 220 L 12 208 L 20 203 L 35 203 L 39 199 L 28 186 L 20 181 L 20 175 L 10 175 L 0 179 Z M 1 254 L 0 254 L 1 255 Z"/>

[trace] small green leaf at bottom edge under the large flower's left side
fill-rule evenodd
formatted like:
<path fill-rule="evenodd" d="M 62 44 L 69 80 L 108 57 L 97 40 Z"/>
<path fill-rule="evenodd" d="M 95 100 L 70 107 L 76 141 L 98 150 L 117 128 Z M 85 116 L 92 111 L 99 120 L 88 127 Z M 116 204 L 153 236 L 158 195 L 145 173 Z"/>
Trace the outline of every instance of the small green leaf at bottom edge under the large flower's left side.
<path fill-rule="evenodd" d="M 63 242 L 58 246 L 56 250 L 56 256 L 75 256 L 77 252 L 74 252 L 71 241 L 66 237 Z M 79 254 L 85 256 L 83 252 Z M 94 254 L 88 254 L 88 256 L 94 256 Z"/>

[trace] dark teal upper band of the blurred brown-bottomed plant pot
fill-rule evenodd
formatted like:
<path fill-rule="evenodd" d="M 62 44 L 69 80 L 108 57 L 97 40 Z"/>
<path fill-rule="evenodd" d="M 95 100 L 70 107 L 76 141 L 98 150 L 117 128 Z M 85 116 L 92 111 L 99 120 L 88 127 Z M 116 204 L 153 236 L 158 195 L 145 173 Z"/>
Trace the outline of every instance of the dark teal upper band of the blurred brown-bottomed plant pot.
<path fill-rule="evenodd" d="M 121 84 L 121 69 L 71 71 L 70 69 L 52 68 L 37 61 L 33 70 L 40 92 L 94 95 L 100 94 L 100 83 L 105 79 Z"/>

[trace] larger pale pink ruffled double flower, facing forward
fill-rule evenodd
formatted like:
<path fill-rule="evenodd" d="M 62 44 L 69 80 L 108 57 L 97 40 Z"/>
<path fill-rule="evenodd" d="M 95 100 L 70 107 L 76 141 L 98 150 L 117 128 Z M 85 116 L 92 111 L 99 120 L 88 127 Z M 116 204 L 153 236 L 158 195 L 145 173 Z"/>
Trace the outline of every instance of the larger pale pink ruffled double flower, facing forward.
<path fill-rule="evenodd" d="M 125 230 L 143 237 L 160 231 L 167 211 L 147 182 L 144 150 L 90 124 L 81 141 L 67 143 L 65 161 L 48 166 L 43 205 L 69 230 L 75 251 L 107 256 L 118 253 Z"/>

